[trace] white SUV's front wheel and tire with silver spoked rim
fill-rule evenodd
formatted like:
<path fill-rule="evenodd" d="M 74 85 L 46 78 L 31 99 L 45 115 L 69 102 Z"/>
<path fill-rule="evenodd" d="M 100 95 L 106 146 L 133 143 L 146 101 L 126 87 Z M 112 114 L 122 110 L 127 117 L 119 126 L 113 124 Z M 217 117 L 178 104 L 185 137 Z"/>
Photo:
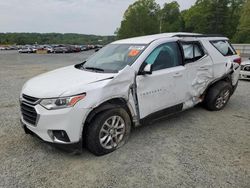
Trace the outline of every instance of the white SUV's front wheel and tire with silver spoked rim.
<path fill-rule="evenodd" d="M 123 108 L 101 112 L 88 126 L 87 149 L 97 156 L 111 153 L 126 143 L 130 130 L 131 119 Z"/>

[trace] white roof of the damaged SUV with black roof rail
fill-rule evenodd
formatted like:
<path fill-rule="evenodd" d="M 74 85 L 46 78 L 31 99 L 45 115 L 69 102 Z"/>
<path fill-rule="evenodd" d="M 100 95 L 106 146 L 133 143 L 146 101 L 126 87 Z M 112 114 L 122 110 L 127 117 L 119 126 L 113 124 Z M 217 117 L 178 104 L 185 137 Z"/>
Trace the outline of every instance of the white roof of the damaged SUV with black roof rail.
<path fill-rule="evenodd" d="M 141 37 L 128 38 L 123 40 L 118 40 L 113 42 L 113 44 L 149 44 L 154 40 L 158 40 L 161 38 L 171 38 L 171 37 L 218 37 L 218 35 L 203 35 L 199 33 L 161 33 L 155 35 L 147 35 Z M 221 37 L 221 36 L 220 36 Z"/>

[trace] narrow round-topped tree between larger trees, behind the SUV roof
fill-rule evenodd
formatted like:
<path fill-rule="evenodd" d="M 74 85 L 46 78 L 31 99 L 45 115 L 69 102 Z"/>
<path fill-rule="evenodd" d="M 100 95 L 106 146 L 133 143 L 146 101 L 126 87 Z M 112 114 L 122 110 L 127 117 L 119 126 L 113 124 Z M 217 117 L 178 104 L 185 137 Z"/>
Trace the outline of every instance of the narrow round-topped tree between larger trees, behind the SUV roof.
<path fill-rule="evenodd" d="M 160 20 L 160 32 L 177 32 L 183 30 L 180 5 L 176 1 L 164 4 Z"/>

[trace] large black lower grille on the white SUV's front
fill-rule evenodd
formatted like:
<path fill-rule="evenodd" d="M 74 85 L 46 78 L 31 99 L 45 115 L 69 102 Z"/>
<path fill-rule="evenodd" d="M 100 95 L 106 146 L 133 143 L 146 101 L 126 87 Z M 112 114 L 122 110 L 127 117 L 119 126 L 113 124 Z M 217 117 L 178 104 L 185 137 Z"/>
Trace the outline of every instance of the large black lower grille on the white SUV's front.
<path fill-rule="evenodd" d="M 36 125 L 37 112 L 33 106 L 27 105 L 24 102 L 21 103 L 21 112 L 24 121 L 31 125 Z"/>

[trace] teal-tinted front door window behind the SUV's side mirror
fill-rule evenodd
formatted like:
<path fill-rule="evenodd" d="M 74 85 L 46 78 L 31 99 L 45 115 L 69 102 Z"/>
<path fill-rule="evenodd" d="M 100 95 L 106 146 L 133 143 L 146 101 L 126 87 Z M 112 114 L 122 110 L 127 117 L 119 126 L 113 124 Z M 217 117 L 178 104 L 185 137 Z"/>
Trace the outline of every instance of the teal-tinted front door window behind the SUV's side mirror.
<path fill-rule="evenodd" d="M 176 42 L 158 46 L 148 56 L 145 63 L 152 64 L 153 71 L 176 67 L 182 64 L 181 53 Z"/>

